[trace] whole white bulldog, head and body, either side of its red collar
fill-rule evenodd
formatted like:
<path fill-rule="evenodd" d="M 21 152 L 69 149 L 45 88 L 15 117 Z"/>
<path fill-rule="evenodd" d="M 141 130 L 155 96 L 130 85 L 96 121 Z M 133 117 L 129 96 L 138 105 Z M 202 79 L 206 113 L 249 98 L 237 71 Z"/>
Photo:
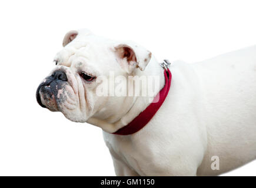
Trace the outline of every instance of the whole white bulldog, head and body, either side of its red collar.
<path fill-rule="evenodd" d="M 161 89 L 164 69 L 157 59 L 135 43 L 87 30 L 68 32 L 63 46 L 36 99 L 69 120 L 101 127 L 118 176 L 212 176 L 256 159 L 256 46 L 204 62 L 172 63 L 167 98 L 150 122 L 130 135 L 112 133 L 152 99 L 98 96 L 96 80 L 109 79 L 111 71 L 125 78 L 158 76 Z"/>

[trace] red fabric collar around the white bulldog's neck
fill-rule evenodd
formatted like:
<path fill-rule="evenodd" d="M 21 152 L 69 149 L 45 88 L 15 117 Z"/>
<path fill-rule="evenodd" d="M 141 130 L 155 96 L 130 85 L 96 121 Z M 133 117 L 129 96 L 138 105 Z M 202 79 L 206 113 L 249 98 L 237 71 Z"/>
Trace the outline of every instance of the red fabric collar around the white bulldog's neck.
<path fill-rule="evenodd" d="M 154 100 L 159 97 L 158 102 L 156 103 L 150 103 L 150 105 L 137 117 L 135 117 L 134 120 L 132 120 L 128 125 L 122 127 L 121 129 L 118 129 L 117 132 L 114 132 L 112 134 L 115 135 L 131 135 L 135 132 L 138 132 L 141 130 L 147 123 L 151 120 L 151 118 L 157 113 L 157 110 L 161 107 L 162 103 L 164 103 L 164 100 L 169 92 L 169 87 L 171 86 L 171 72 L 169 69 L 164 70 L 164 77 L 165 77 L 165 85 L 164 88 L 160 90 L 160 92 L 155 96 Z"/>

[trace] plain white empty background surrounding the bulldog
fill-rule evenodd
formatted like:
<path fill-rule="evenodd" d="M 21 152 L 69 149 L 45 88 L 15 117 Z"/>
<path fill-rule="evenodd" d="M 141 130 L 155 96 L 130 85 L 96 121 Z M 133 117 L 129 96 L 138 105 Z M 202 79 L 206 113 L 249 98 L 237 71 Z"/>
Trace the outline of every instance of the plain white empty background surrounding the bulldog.
<path fill-rule="evenodd" d="M 36 103 L 69 30 L 131 39 L 159 60 L 195 62 L 255 45 L 255 9 L 245 0 L 1 1 L 0 175 L 115 174 L 101 129 Z M 227 175 L 255 176 L 255 168 Z"/>

